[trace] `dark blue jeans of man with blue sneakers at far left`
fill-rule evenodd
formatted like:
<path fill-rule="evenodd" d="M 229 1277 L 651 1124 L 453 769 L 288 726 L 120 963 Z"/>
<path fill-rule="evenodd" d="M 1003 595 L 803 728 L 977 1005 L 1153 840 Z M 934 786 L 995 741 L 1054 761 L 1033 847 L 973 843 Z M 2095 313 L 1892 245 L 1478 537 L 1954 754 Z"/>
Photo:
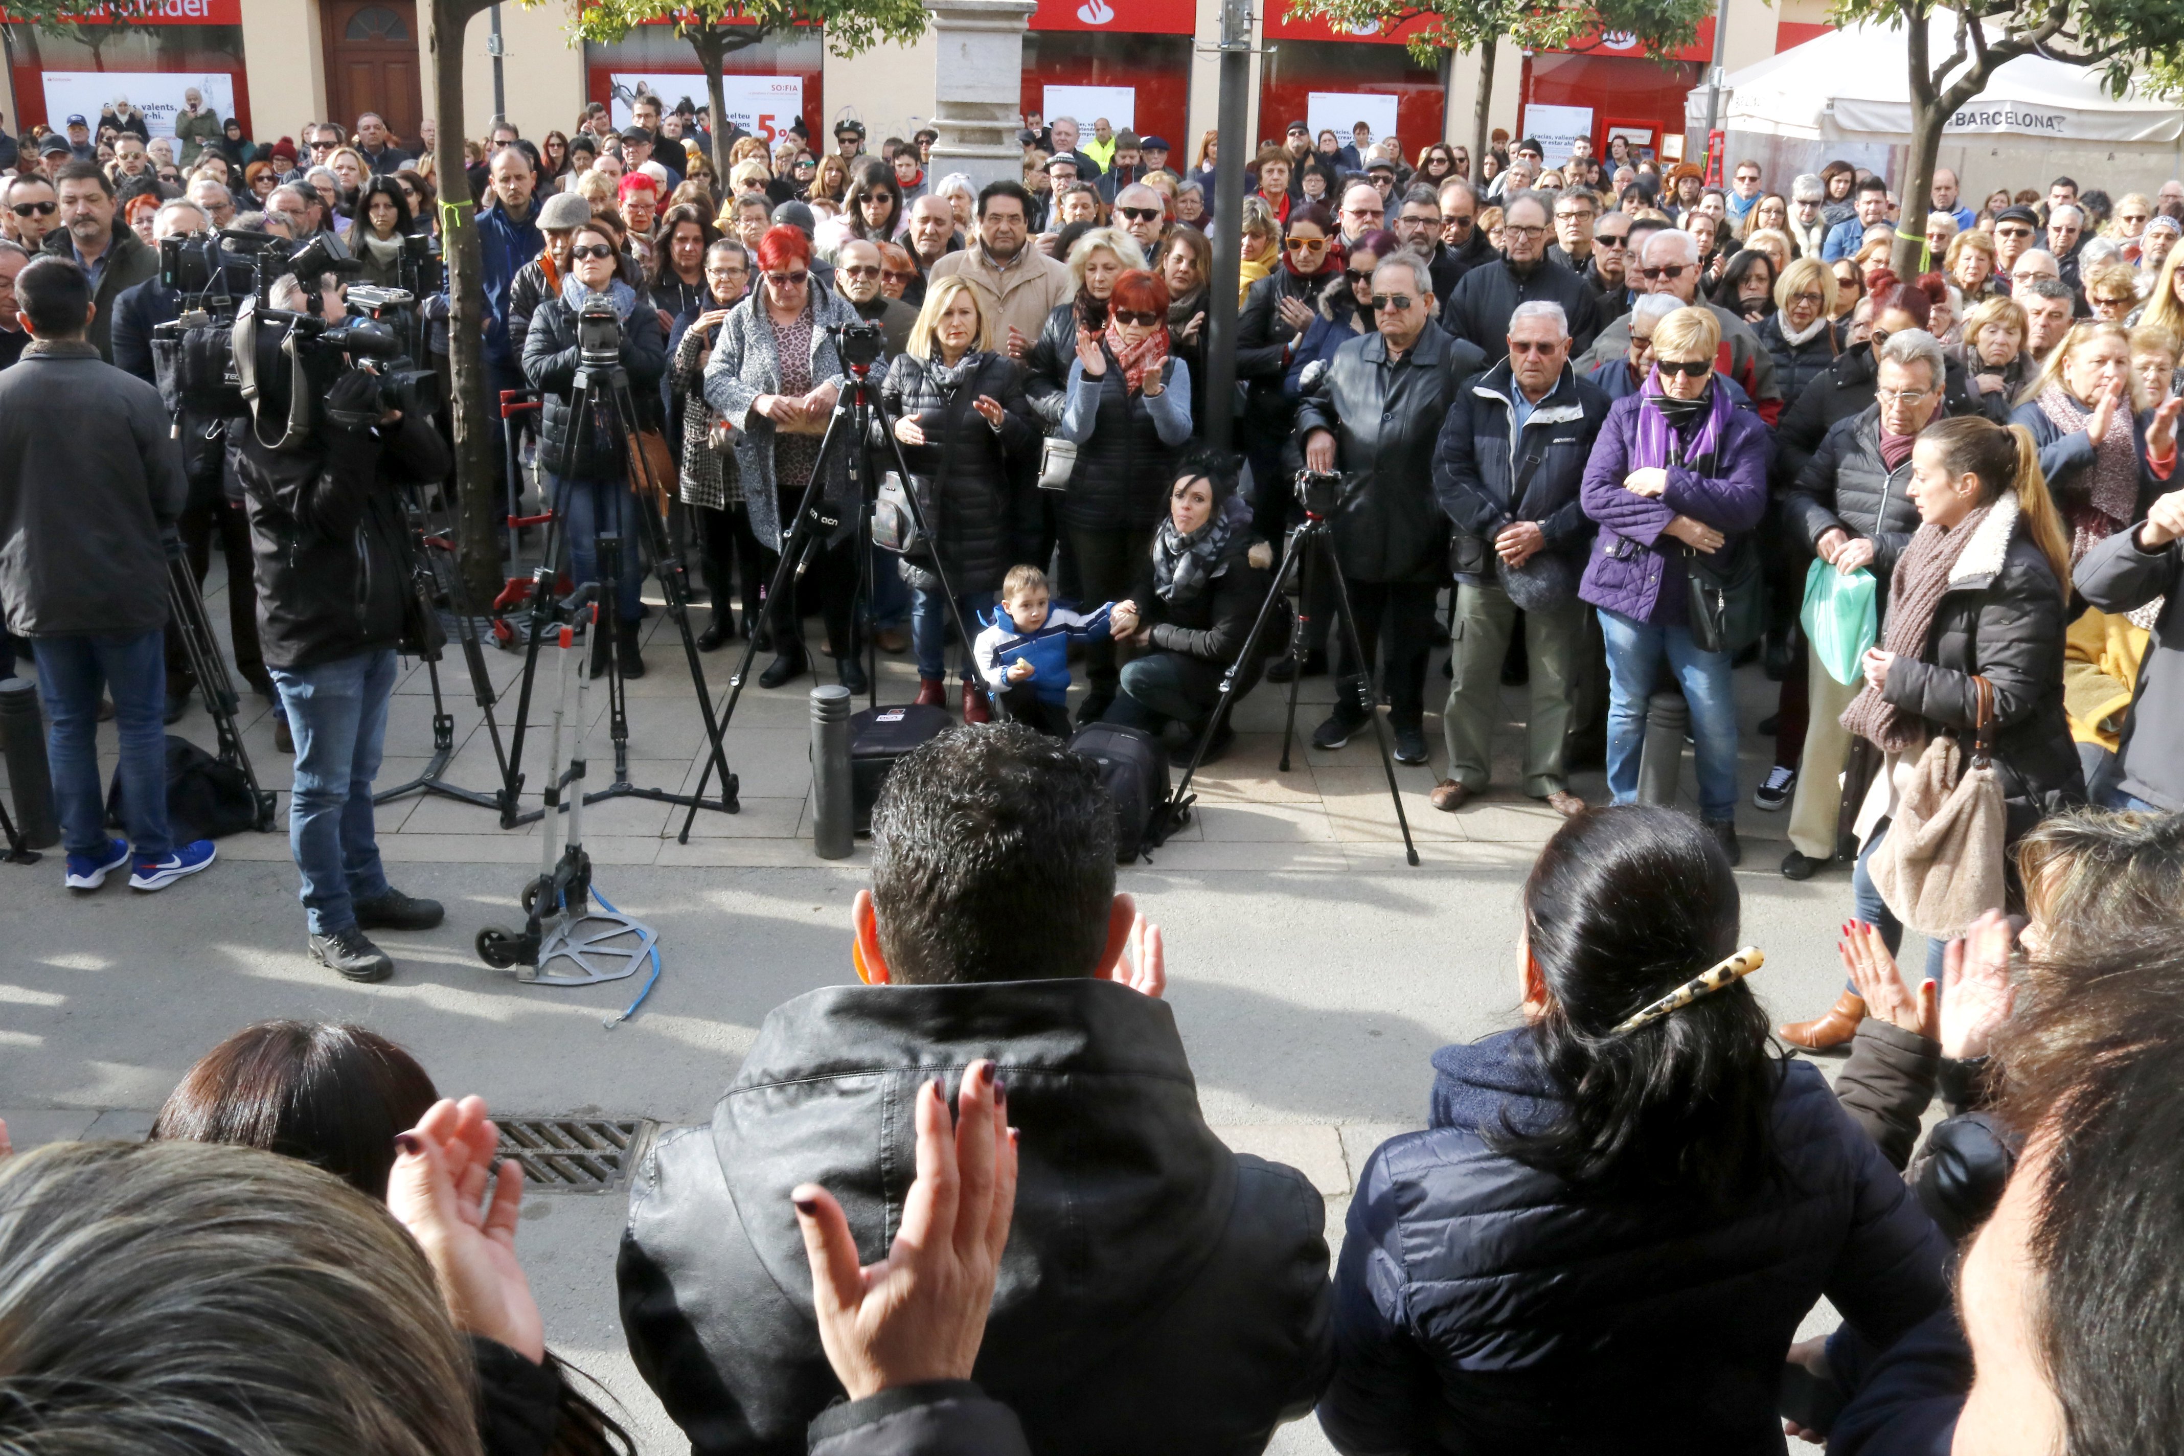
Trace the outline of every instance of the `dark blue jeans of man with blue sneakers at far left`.
<path fill-rule="evenodd" d="M 46 703 L 46 762 L 68 854 L 105 856 L 107 795 L 98 784 L 98 688 L 114 694 L 122 740 L 122 823 L 140 860 L 175 851 L 166 832 L 166 633 L 31 637 Z"/>

